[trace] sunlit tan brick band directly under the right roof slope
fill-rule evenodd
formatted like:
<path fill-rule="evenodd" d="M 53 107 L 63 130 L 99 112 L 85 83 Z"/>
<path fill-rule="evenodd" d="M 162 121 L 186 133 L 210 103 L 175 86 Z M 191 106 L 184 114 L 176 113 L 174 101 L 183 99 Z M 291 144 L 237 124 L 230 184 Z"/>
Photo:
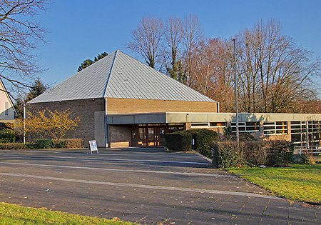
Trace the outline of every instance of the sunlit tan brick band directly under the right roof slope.
<path fill-rule="evenodd" d="M 148 99 L 107 99 L 108 114 L 146 112 L 217 112 L 216 102 Z"/>

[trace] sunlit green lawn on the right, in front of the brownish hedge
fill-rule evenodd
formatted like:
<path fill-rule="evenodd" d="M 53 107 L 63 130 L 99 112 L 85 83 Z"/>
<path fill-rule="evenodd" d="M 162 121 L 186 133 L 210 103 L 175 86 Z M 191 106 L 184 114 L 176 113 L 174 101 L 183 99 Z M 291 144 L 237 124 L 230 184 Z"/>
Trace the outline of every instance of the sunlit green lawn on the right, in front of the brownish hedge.
<path fill-rule="evenodd" d="M 284 168 L 228 168 L 228 171 L 263 186 L 276 196 L 321 203 L 321 164 L 292 164 Z"/>

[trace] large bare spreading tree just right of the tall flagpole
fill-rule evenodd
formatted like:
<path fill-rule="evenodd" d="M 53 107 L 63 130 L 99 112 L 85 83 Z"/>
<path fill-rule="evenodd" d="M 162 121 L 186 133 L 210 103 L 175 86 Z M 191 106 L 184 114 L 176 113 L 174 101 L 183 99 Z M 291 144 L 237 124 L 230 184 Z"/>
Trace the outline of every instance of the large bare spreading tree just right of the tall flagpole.
<path fill-rule="evenodd" d="M 310 78 L 320 72 L 320 62 L 282 35 L 280 23 L 260 21 L 236 39 L 243 111 L 276 113 L 312 96 Z"/>

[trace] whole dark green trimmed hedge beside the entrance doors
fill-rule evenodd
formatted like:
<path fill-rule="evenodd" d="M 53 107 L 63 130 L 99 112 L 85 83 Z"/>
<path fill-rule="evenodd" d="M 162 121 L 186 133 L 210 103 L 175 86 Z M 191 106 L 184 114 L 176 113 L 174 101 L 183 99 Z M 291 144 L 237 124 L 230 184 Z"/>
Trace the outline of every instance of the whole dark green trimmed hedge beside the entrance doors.
<path fill-rule="evenodd" d="M 166 134 L 166 148 L 176 151 L 195 150 L 207 157 L 212 157 L 212 143 L 220 137 L 215 131 L 193 129 Z"/>

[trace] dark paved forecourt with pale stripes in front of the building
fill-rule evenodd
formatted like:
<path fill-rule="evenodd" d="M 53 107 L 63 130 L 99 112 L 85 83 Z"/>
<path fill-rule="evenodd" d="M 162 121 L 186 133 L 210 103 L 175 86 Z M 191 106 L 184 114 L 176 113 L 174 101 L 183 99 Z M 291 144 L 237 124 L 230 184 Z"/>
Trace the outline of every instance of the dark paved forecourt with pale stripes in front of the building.
<path fill-rule="evenodd" d="M 0 151 L 0 201 L 141 224 L 320 224 L 198 154 L 163 149 Z"/>

